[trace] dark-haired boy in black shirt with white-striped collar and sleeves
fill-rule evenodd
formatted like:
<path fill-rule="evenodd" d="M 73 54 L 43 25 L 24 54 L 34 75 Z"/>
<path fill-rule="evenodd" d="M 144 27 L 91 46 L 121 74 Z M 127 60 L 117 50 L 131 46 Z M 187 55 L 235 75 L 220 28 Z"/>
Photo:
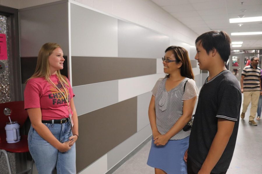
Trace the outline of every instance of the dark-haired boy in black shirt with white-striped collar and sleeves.
<path fill-rule="evenodd" d="M 203 33 L 195 41 L 195 59 L 209 76 L 199 93 L 184 157 L 188 174 L 225 174 L 233 156 L 242 99 L 237 78 L 224 65 L 230 43 L 224 31 Z"/>

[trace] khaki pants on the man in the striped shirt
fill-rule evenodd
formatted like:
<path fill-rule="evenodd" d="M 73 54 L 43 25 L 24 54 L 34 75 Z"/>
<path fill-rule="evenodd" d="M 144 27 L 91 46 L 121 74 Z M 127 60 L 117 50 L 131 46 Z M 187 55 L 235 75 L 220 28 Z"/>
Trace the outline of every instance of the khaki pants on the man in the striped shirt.
<path fill-rule="evenodd" d="M 244 91 L 243 110 L 242 113 L 247 112 L 247 107 L 251 101 L 251 109 L 249 120 L 254 120 L 256 117 L 257 104 L 260 96 L 260 91 Z"/>

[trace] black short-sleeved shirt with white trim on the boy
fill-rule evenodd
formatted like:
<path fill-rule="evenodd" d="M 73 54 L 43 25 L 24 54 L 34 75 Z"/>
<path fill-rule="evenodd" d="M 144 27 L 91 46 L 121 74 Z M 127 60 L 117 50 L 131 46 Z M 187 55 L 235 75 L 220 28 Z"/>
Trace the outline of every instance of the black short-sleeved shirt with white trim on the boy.
<path fill-rule="evenodd" d="M 229 168 L 236 145 L 241 108 L 241 90 L 236 77 L 224 70 L 202 86 L 190 134 L 188 156 L 201 168 L 217 133 L 218 118 L 236 122 L 224 153 L 212 170 L 221 173 Z"/>

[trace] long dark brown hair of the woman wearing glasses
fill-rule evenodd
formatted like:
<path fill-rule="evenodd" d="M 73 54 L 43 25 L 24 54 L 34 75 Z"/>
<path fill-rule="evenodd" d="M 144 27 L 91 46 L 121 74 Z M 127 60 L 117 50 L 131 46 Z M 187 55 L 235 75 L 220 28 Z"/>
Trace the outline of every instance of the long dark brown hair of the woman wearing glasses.
<path fill-rule="evenodd" d="M 173 52 L 176 61 L 182 63 L 182 66 L 180 67 L 181 76 L 194 79 L 194 74 L 187 50 L 180 46 L 170 46 L 165 50 L 165 52 L 170 50 Z M 169 74 L 166 77 L 169 77 Z"/>

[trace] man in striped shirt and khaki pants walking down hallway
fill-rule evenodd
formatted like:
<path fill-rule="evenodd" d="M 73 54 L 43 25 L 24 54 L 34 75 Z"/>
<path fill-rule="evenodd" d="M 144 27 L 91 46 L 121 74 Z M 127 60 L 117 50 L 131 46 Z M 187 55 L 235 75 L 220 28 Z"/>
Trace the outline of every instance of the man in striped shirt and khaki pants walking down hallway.
<path fill-rule="evenodd" d="M 241 118 L 242 119 L 245 118 L 247 107 L 251 101 L 249 124 L 252 124 L 254 126 L 257 125 L 257 123 L 254 121 L 254 118 L 256 117 L 256 110 L 257 110 L 259 96 L 262 95 L 261 79 L 260 79 L 261 69 L 257 66 L 258 63 L 259 63 L 259 58 L 252 57 L 251 64 L 245 66 L 245 68 L 243 69 L 241 80 L 240 80 L 241 93 L 244 93 Z"/>

